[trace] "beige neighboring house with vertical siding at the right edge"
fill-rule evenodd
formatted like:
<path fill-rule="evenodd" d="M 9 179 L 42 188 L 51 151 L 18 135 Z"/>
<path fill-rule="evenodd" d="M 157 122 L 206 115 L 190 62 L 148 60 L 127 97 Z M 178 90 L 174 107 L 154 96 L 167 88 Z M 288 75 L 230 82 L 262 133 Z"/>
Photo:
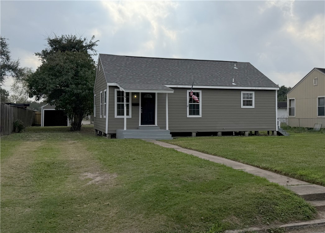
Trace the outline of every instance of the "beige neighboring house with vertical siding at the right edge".
<path fill-rule="evenodd" d="M 314 68 L 287 94 L 291 127 L 325 127 L 325 69 Z"/>

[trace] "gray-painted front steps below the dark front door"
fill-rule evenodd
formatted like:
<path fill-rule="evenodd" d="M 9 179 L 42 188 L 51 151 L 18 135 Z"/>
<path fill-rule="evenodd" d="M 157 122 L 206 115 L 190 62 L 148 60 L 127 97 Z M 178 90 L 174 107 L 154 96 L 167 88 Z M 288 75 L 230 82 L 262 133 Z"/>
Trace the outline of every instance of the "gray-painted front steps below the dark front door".
<path fill-rule="evenodd" d="M 116 138 L 150 138 L 156 140 L 173 139 L 169 130 L 160 129 L 158 126 L 139 126 L 138 129 L 117 129 Z"/>

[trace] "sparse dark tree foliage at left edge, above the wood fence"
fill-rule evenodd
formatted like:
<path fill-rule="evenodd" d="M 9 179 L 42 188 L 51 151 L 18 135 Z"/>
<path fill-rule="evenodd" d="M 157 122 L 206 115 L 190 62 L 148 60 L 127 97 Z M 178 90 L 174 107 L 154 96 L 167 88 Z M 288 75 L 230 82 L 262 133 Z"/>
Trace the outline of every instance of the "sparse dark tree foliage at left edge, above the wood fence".
<path fill-rule="evenodd" d="M 12 76 L 13 78 L 20 75 L 21 69 L 19 68 L 20 63 L 18 60 L 12 60 L 9 50 L 9 44 L 7 43 L 7 40 L 5 37 L 0 36 L 0 44 L 1 44 L 1 51 L 0 51 L 0 57 L 1 57 L 1 64 L 0 64 L 0 84 L 4 84 L 6 79 L 9 76 Z"/>

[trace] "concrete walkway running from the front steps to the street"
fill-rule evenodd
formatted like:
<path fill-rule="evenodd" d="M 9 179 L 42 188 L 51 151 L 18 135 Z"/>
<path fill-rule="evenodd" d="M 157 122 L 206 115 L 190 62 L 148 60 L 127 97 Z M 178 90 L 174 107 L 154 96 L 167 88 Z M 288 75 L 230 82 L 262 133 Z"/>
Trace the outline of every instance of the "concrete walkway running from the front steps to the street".
<path fill-rule="evenodd" d="M 274 172 L 266 171 L 257 167 L 253 167 L 251 165 L 247 165 L 241 162 L 232 161 L 229 159 L 221 158 L 215 155 L 205 154 L 199 151 L 185 149 L 179 146 L 175 146 L 169 143 L 156 141 L 153 139 L 144 139 L 148 142 L 152 142 L 156 145 L 166 147 L 166 148 L 173 148 L 175 150 L 178 150 L 180 152 L 184 152 L 187 154 L 195 155 L 197 157 L 200 157 L 202 159 L 206 159 L 212 162 L 217 162 L 224 164 L 226 166 L 232 167 L 237 170 L 242 170 L 245 172 L 248 172 L 253 175 L 257 175 L 260 177 L 264 177 L 270 182 L 277 183 L 279 185 L 282 185 L 290 190 L 292 190 L 294 193 L 298 194 L 302 198 L 304 198 L 306 201 L 308 201 L 310 204 L 314 205 L 318 211 L 321 218 L 324 219 L 325 223 L 325 187 L 320 185 L 314 185 L 307 183 L 305 181 L 293 179 L 284 175 L 279 175 Z"/>

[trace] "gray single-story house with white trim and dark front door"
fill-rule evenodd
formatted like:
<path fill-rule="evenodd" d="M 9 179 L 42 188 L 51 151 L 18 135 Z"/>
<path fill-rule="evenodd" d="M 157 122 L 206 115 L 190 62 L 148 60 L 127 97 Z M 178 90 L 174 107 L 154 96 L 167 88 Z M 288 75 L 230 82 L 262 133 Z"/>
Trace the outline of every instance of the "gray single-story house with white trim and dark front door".
<path fill-rule="evenodd" d="M 249 62 L 99 54 L 94 128 L 117 138 L 276 135 L 278 89 Z"/>

